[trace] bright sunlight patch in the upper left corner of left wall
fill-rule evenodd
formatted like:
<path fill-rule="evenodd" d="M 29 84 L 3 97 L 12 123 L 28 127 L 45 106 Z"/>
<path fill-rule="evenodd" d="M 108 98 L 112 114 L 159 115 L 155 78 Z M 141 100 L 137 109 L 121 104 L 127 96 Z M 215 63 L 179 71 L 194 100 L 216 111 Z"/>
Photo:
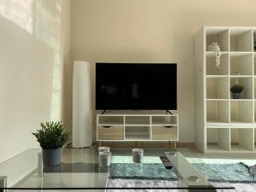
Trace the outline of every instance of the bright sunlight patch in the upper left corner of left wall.
<path fill-rule="evenodd" d="M 0 0 L 0 15 L 32 33 L 34 0 Z"/>

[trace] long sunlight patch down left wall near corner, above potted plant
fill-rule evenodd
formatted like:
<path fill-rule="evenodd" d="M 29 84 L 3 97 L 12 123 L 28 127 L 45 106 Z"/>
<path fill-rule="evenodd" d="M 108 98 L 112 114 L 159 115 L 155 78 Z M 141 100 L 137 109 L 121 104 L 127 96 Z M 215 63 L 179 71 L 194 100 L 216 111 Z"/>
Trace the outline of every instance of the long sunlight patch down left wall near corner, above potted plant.
<path fill-rule="evenodd" d="M 61 0 L 36 0 L 33 34 L 53 50 L 50 119 L 60 120 L 62 111 Z"/>

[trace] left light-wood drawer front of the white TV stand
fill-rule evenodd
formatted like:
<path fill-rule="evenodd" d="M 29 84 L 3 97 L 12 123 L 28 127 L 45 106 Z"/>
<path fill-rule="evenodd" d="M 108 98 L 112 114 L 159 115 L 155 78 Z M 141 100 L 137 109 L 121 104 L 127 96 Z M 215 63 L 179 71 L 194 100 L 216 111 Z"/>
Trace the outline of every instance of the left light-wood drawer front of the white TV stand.
<path fill-rule="evenodd" d="M 98 140 L 123 140 L 124 139 L 124 126 L 111 126 L 109 128 L 98 126 L 97 127 Z"/>

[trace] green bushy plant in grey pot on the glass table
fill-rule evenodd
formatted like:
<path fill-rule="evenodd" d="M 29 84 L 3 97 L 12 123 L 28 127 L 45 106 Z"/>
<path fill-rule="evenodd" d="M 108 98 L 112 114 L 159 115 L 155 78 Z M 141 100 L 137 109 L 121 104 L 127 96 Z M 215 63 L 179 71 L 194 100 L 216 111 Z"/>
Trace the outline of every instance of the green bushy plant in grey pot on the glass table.
<path fill-rule="evenodd" d="M 43 151 L 44 166 L 61 164 L 62 147 L 67 143 L 69 132 L 65 131 L 61 121 L 41 123 L 41 129 L 32 132 L 37 137 Z"/>

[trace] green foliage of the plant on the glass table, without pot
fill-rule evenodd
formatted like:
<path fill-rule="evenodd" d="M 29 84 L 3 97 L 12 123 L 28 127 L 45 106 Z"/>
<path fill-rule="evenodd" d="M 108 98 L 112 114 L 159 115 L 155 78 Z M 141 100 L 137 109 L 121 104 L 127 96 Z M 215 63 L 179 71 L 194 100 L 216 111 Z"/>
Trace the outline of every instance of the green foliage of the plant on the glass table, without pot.
<path fill-rule="evenodd" d="M 69 132 L 65 131 L 61 121 L 41 123 L 41 129 L 32 132 L 37 137 L 41 148 L 61 148 L 68 140 Z"/>

